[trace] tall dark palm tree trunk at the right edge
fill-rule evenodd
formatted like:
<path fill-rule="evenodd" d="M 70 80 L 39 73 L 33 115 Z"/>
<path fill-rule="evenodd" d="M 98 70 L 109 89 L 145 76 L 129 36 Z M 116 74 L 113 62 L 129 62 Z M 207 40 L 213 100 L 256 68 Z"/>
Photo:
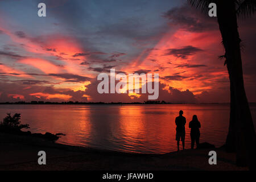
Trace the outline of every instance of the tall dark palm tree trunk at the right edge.
<path fill-rule="evenodd" d="M 217 18 L 230 80 L 230 125 L 226 147 L 228 151 L 237 152 L 238 166 L 249 166 L 250 169 L 255 169 L 255 129 L 243 85 L 241 39 L 233 0 L 217 2 Z"/>

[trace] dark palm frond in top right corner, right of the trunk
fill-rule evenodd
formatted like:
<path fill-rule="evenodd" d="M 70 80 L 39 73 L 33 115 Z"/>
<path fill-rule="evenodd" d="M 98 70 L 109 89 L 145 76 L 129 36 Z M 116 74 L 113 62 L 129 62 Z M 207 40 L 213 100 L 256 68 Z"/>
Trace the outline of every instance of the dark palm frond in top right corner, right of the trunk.
<path fill-rule="evenodd" d="M 240 1 L 241 2 L 241 1 Z M 255 0 L 244 0 L 237 8 L 237 15 L 242 18 L 249 18 L 256 11 Z"/>

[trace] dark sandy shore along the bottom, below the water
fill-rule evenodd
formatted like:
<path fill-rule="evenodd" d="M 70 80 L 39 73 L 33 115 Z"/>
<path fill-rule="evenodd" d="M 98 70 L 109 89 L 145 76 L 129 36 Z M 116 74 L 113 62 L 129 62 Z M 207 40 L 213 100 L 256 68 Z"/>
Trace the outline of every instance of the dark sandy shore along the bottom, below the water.
<path fill-rule="evenodd" d="M 47 142 L 39 138 L 0 134 L 0 170 L 247 170 L 235 165 L 235 154 L 222 148 L 181 150 L 163 155 L 94 150 Z M 47 164 L 38 164 L 46 151 Z M 217 165 L 209 165 L 208 152 L 217 152 Z"/>

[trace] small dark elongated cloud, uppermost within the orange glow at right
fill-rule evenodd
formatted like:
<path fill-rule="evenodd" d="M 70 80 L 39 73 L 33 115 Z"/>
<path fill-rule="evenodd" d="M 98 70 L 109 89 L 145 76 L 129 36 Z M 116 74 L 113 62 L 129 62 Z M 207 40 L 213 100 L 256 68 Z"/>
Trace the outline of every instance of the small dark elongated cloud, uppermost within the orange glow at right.
<path fill-rule="evenodd" d="M 187 59 L 187 56 L 194 55 L 196 52 L 203 51 L 193 46 L 184 46 L 182 48 L 172 48 L 166 50 L 166 55 L 173 55 L 181 59 Z"/>

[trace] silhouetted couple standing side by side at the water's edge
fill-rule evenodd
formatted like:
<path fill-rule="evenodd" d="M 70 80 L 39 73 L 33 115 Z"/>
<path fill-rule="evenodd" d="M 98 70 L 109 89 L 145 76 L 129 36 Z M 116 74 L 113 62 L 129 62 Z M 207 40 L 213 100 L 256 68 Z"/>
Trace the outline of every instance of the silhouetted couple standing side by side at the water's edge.
<path fill-rule="evenodd" d="M 177 150 L 180 150 L 180 140 L 182 142 L 183 150 L 185 148 L 185 124 L 186 124 L 186 118 L 183 116 L 183 111 L 180 110 L 179 116 L 176 117 L 175 123 L 176 123 L 176 140 L 177 140 Z M 200 127 L 201 124 L 197 119 L 196 115 L 193 115 L 192 121 L 189 122 L 189 128 L 191 128 L 190 131 L 190 137 L 191 137 L 191 148 L 194 148 L 194 144 L 196 142 L 196 147 L 199 147 L 199 138 L 200 138 Z"/>

